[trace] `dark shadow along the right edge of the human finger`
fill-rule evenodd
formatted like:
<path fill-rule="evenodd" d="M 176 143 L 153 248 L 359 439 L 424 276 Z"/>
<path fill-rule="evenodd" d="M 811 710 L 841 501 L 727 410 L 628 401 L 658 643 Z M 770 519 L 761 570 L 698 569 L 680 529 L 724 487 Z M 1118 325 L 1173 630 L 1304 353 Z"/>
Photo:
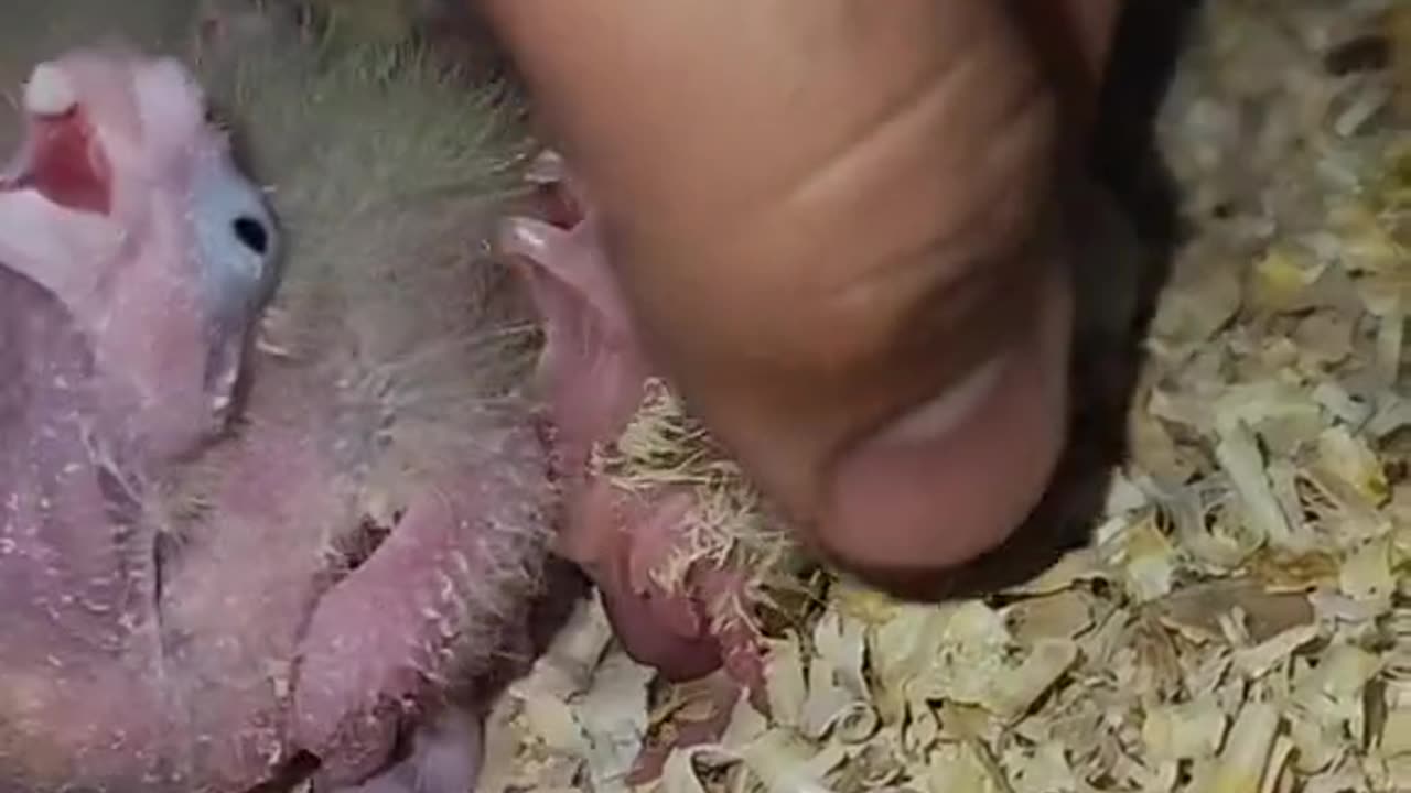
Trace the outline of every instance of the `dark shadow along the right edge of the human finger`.
<path fill-rule="evenodd" d="M 1102 87 L 1089 174 L 1108 200 L 1085 217 L 1075 257 L 1078 327 L 1070 444 L 1029 522 L 927 598 L 979 597 L 1033 579 L 1081 547 L 1127 454 L 1126 416 L 1141 340 L 1184 237 L 1177 186 L 1157 151 L 1156 117 L 1201 0 L 1129 0 Z M 935 584 L 934 576 L 927 584 Z M 904 591 L 904 590 L 903 590 Z"/>

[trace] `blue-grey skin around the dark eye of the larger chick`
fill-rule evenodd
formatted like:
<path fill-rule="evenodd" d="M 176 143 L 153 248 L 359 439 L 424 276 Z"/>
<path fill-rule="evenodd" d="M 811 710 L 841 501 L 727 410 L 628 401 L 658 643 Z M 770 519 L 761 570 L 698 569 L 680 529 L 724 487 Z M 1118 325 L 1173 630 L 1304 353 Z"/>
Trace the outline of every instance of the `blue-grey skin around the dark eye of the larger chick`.
<path fill-rule="evenodd" d="M 223 415 L 251 329 L 279 282 L 282 233 L 264 190 L 227 152 L 198 164 L 190 223 L 207 312 L 206 388 L 213 411 Z"/>

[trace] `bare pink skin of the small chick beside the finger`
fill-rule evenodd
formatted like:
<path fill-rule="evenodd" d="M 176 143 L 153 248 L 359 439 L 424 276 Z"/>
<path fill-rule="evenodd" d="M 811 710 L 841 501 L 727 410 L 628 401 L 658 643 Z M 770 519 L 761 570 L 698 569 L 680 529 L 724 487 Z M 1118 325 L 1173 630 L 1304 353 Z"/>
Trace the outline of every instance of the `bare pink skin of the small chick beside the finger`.
<path fill-rule="evenodd" d="M 540 161 L 553 183 L 562 167 Z M 567 189 L 564 179 L 559 186 Z M 550 190 L 552 192 L 552 190 Z M 684 490 L 628 492 L 588 471 L 595 443 L 615 439 L 645 396 L 653 374 L 631 327 L 621 293 L 583 196 L 560 195 L 547 219 L 508 223 L 504 241 L 526 260 L 543 319 L 540 380 L 555 419 L 555 470 L 566 495 L 557 550 L 577 562 L 602 591 L 626 650 L 667 679 L 693 679 L 724 665 L 741 684 L 762 693 L 762 646 L 745 625 L 715 629 L 714 600 L 748 603 L 741 571 L 698 562 L 684 591 L 665 591 L 649 571 L 684 540 L 683 516 L 694 507 Z"/>

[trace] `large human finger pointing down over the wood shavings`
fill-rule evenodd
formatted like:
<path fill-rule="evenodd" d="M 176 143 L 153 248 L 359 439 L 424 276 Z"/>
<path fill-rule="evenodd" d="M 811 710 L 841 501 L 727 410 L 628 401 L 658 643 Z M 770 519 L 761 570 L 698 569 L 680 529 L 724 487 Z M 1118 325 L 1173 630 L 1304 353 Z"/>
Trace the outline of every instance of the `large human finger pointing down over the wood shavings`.
<path fill-rule="evenodd" d="M 1017 528 L 1119 0 L 483 6 L 653 365 L 806 540 L 923 591 Z"/>

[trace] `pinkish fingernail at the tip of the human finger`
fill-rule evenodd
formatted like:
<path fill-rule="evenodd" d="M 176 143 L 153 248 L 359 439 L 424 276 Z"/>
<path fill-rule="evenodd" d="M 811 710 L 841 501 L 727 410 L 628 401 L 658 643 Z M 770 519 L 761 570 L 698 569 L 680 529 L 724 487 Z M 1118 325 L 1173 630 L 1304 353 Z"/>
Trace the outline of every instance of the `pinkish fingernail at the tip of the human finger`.
<path fill-rule="evenodd" d="M 876 433 L 832 471 L 821 549 L 864 577 L 945 570 L 1034 509 L 1067 440 L 1065 306 Z"/>

